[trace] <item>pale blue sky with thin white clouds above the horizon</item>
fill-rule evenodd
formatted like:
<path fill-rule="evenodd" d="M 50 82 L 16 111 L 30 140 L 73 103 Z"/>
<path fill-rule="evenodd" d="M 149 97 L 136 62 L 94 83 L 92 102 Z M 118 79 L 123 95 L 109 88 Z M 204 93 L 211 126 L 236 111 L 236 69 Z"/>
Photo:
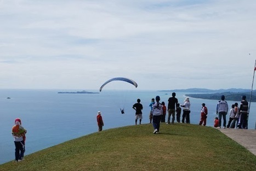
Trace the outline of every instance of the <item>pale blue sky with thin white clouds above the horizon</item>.
<path fill-rule="evenodd" d="M 0 0 L 0 21 L 0 89 L 252 87 L 255 0 Z"/>

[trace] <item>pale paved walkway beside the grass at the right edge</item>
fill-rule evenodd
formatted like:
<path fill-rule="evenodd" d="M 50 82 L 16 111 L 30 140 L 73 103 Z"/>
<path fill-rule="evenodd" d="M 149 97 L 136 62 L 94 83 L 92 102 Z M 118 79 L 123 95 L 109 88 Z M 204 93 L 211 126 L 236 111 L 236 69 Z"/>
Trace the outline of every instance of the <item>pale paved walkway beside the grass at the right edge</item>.
<path fill-rule="evenodd" d="M 256 129 L 221 128 L 219 130 L 256 155 Z"/>

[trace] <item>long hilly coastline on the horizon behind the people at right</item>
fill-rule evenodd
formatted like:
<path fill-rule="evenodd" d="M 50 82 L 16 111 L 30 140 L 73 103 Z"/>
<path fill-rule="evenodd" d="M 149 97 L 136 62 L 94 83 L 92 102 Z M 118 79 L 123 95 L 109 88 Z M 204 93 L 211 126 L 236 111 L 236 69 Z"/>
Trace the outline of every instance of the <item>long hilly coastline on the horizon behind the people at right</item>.
<path fill-rule="evenodd" d="M 247 101 L 250 100 L 251 90 L 249 89 L 219 89 L 219 90 L 209 90 L 209 89 L 181 89 L 181 90 L 160 90 L 161 92 L 189 92 L 185 96 L 193 98 L 202 98 L 202 99 L 212 99 L 220 100 L 221 95 L 225 96 L 226 101 L 237 101 L 242 100 L 242 96 L 247 97 Z M 253 90 L 251 102 L 256 102 L 256 91 Z"/>

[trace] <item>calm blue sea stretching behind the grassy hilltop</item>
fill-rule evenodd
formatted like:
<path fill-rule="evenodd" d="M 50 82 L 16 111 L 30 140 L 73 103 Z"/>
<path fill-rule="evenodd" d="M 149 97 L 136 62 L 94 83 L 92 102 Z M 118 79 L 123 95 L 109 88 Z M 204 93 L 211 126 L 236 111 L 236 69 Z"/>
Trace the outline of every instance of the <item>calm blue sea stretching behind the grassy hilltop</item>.
<path fill-rule="evenodd" d="M 135 110 L 138 98 L 143 104 L 142 124 L 149 124 L 151 98 L 160 96 L 168 104 L 172 92 L 155 90 L 103 90 L 100 93 L 58 93 L 83 90 L 18 90 L 0 89 L 0 164 L 14 160 L 14 142 L 11 134 L 14 120 L 19 117 L 27 129 L 26 155 L 49 148 L 67 140 L 98 131 L 96 115 L 101 111 L 105 129 L 135 125 Z M 99 90 L 86 90 L 99 92 Z M 195 92 L 191 92 L 195 93 Z M 176 92 L 180 104 L 188 92 Z M 207 126 L 213 126 L 217 102 L 215 100 L 190 98 L 191 124 L 200 121 L 202 103 L 208 108 Z M 229 108 L 234 101 L 227 101 Z M 240 102 L 238 102 L 240 104 Z M 124 109 L 121 114 L 120 109 Z M 167 119 L 167 118 L 166 118 Z M 229 115 L 227 115 L 227 121 Z M 256 103 L 251 103 L 248 129 L 255 129 Z M 186 123 L 184 123 L 186 124 Z M 153 131 L 149 130 L 149 132 Z"/>

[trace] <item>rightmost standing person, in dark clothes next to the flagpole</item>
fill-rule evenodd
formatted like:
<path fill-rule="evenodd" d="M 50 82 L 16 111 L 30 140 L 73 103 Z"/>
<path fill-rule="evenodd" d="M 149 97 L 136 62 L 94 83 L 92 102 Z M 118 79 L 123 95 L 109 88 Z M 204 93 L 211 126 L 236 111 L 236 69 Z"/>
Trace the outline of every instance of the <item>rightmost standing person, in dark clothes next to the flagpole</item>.
<path fill-rule="evenodd" d="M 248 129 L 247 128 L 247 117 L 248 117 L 248 102 L 246 101 L 246 96 L 242 96 L 242 101 L 240 104 L 240 120 L 238 122 L 237 128 Z"/>

